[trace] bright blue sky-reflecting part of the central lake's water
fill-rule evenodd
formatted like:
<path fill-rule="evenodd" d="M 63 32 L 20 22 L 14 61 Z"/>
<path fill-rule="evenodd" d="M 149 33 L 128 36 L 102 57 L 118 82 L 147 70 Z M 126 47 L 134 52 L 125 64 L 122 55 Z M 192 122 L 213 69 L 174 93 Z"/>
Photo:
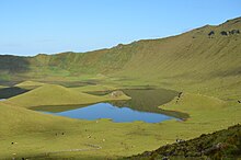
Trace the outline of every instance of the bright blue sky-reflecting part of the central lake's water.
<path fill-rule="evenodd" d="M 111 118 L 116 123 L 142 121 L 146 123 L 160 123 L 162 121 L 171 119 L 174 117 L 150 112 L 140 112 L 129 107 L 117 107 L 110 103 L 96 103 L 81 108 L 51 113 L 55 115 L 66 116 L 70 118 L 81 119 L 100 119 Z"/>

